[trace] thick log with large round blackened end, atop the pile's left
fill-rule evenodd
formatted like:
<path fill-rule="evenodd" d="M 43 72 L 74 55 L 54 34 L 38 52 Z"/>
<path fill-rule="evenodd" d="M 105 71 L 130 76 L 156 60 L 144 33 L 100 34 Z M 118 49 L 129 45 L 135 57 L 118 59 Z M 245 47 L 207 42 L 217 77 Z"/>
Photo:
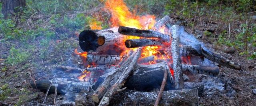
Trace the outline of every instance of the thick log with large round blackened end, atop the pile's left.
<path fill-rule="evenodd" d="M 79 34 L 79 45 L 86 52 L 108 52 L 116 50 L 115 44 L 122 45 L 127 38 L 119 34 L 116 27 L 106 30 L 84 30 Z"/>

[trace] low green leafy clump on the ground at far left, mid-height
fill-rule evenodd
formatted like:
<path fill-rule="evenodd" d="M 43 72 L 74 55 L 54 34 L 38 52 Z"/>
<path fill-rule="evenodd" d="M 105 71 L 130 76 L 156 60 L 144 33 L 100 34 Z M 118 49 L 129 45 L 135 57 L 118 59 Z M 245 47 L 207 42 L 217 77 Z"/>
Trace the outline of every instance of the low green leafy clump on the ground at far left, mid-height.
<path fill-rule="evenodd" d="M 12 47 L 10 49 L 10 55 L 6 59 L 5 63 L 10 65 L 22 64 L 23 62 L 26 62 L 29 57 L 30 53 Z"/>

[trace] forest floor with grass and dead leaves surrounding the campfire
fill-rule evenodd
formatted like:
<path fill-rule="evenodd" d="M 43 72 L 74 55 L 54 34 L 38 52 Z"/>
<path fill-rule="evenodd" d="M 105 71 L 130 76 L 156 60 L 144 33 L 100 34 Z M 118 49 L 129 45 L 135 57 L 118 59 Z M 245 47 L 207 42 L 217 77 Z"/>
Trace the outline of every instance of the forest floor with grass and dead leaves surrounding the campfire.
<path fill-rule="evenodd" d="M 29 1 L 27 5 L 32 6 L 33 3 Z M 127 4 L 138 10 L 142 8 L 142 6 L 134 6 L 129 2 Z M 191 6 L 193 5 L 191 4 L 190 8 Z M 50 76 L 56 65 L 84 68 L 80 57 L 74 53 L 75 48 L 80 48 L 77 42 L 78 34 L 88 29 L 88 21 L 93 18 L 91 12 L 99 12 L 98 8 L 102 7 L 102 4 L 97 2 L 92 7 L 88 7 L 86 11 L 68 12 L 64 16 L 59 12 L 46 14 L 47 11 L 44 12 L 42 8 L 39 8 L 41 11 L 36 12 L 33 10 L 35 7 L 31 7 L 29 12 L 34 14 L 20 18 L 17 26 L 17 23 L 13 21 L 17 18 L 4 20 L 0 16 L 0 106 L 28 106 L 28 104 L 33 106 L 38 103 L 43 105 L 45 93 L 33 89 L 30 85 L 36 73 L 44 72 Z M 253 46 L 256 41 L 256 12 L 250 13 L 244 20 L 239 18 L 240 13 L 236 13 L 238 16 L 234 16 L 234 20 L 231 21 L 230 18 L 225 18 L 226 13 L 224 13 L 229 10 L 223 9 L 223 16 L 219 16 L 217 14 L 219 12 L 208 14 L 211 7 L 205 7 L 204 3 L 199 5 L 199 8 L 200 10 L 204 8 L 206 12 L 201 15 L 191 13 L 189 18 L 188 14 L 180 15 L 178 12 L 172 12 L 171 16 L 176 22 L 185 26 L 186 31 L 196 37 L 202 35 L 198 37 L 198 40 L 204 42 L 207 47 L 213 48 L 243 67 L 241 70 L 234 70 L 221 66 L 219 77 L 236 93 L 233 96 L 227 96 L 226 90 L 213 90 L 213 94 L 204 92 L 199 101 L 200 106 L 255 106 L 256 94 L 252 90 L 256 89 L 256 59 L 254 57 L 256 47 Z M 159 11 L 168 12 L 170 8 L 148 9 L 149 12 L 144 12 L 154 14 L 157 19 L 160 19 L 164 14 L 159 14 Z M 23 13 L 23 15 L 27 14 Z M 219 20 L 218 17 L 224 18 Z M 108 25 L 108 21 L 100 21 L 99 24 L 102 24 L 103 28 L 108 27 L 105 26 Z M 246 32 L 246 28 L 251 28 L 251 30 Z M 246 33 L 249 33 L 248 38 L 252 39 L 248 39 L 247 51 L 246 44 L 243 42 Z M 236 52 L 225 53 L 225 50 L 230 49 Z M 53 105 L 53 98 L 54 94 L 50 94 L 45 104 Z"/>

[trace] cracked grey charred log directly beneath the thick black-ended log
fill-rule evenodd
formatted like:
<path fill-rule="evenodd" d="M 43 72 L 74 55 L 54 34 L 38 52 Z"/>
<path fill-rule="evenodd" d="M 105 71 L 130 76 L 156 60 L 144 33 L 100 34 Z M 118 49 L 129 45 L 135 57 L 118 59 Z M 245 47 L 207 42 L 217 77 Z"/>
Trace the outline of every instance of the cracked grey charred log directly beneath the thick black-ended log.
<path fill-rule="evenodd" d="M 120 57 L 118 55 L 108 55 L 108 54 L 87 54 L 87 62 L 90 65 L 98 64 L 98 65 L 117 65 L 120 60 L 124 57 Z"/>

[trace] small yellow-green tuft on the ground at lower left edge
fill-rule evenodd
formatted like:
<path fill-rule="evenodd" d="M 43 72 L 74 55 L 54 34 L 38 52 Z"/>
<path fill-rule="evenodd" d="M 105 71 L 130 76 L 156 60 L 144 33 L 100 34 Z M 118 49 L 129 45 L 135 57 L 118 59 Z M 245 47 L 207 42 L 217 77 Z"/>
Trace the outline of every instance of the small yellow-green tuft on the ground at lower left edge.
<path fill-rule="evenodd" d="M 0 100 L 6 100 L 8 98 L 8 95 L 11 93 L 11 89 L 9 88 L 8 84 L 4 84 L 2 87 L 0 87 Z"/>

